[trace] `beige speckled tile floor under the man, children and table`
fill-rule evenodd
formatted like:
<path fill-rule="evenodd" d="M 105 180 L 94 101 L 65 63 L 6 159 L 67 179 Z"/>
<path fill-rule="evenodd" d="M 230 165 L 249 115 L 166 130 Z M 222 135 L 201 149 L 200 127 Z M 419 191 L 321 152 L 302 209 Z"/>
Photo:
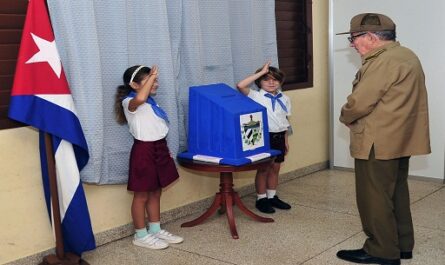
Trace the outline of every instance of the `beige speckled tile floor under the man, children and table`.
<path fill-rule="evenodd" d="M 445 264 L 445 187 L 440 183 L 410 180 L 416 245 L 414 258 L 402 264 Z M 83 258 L 95 264 L 351 264 L 336 258 L 340 249 L 360 248 L 365 239 L 355 205 L 352 172 L 325 170 L 279 186 L 279 195 L 289 201 L 290 211 L 271 215 L 274 223 L 259 223 L 235 210 L 240 238 L 232 239 L 227 218 L 215 214 L 204 223 L 181 228 L 188 216 L 165 224 L 185 241 L 166 250 L 133 246 L 125 238 Z M 242 198 L 254 209 L 253 194 Z"/>

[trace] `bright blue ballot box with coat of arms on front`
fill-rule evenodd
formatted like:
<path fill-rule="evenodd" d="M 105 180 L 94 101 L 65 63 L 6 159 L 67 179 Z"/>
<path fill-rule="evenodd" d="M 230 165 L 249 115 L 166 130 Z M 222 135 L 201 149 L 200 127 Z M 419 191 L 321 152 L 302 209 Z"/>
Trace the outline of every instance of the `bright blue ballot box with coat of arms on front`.
<path fill-rule="evenodd" d="M 235 166 L 280 154 L 266 108 L 222 83 L 190 87 L 187 143 L 179 157 Z"/>

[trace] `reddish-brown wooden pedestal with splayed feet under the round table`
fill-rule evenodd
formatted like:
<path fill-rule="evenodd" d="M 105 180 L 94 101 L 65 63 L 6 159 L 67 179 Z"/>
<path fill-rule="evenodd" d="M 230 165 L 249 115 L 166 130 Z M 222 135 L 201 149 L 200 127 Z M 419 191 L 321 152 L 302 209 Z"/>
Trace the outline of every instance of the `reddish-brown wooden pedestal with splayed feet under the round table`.
<path fill-rule="evenodd" d="M 219 192 L 215 194 L 215 199 L 212 205 L 205 213 L 203 213 L 198 218 L 183 223 L 181 227 L 192 227 L 202 223 L 205 219 L 213 215 L 219 208 L 220 213 L 225 213 L 227 215 L 227 220 L 229 222 L 230 233 L 234 239 L 238 239 L 238 232 L 236 230 L 235 217 L 233 215 L 233 205 L 240 208 L 241 212 L 249 216 L 255 221 L 259 222 L 273 222 L 272 218 L 266 218 L 259 216 L 244 206 L 237 192 L 233 189 L 233 175 L 232 172 L 221 172 L 220 174 L 220 184 Z"/>

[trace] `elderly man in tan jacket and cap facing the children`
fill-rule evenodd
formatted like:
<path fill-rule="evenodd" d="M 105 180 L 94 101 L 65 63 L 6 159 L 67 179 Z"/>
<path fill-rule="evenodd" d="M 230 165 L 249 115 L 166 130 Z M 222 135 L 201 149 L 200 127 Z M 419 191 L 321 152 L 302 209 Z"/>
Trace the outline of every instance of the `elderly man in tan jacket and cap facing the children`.
<path fill-rule="evenodd" d="M 412 258 L 414 246 L 409 159 L 431 152 L 425 76 L 417 56 L 395 41 L 396 25 L 385 15 L 359 14 L 339 34 L 350 34 L 362 59 L 340 121 L 350 129 L 357 207 L 368 238 L 363 248 L 337 257 L 400 264 Z"/>

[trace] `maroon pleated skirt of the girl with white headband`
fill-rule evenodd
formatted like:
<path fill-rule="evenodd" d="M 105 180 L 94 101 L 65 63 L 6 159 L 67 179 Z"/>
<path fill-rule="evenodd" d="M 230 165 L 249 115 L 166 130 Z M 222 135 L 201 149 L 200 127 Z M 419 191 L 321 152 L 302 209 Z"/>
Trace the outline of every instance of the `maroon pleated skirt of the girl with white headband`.
<path fill-rule="evenodd" d="M 179 174 L 165 139 L 154 142 L 134 140 L 127 190 L 155 191 L 177 178 Z"/>

